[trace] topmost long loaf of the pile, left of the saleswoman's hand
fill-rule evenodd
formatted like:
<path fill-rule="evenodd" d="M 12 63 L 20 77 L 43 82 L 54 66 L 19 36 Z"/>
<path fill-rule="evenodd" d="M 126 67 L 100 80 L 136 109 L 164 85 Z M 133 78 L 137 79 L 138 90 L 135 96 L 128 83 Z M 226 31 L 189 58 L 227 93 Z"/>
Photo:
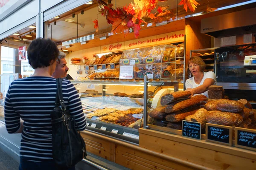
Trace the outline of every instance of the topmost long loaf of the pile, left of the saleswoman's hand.
<path fill-rule="evenodd" d="M 161 105 L 168 105 L 170 102 L 172 101 L 177 101 L 178 99 L 186 99 L 189 96 L 191 96 L 191 92 L 190 91 L 177 91 L 177 92 L 173 92 L 170 94 L 164 94 L 161 97 Z"/>

